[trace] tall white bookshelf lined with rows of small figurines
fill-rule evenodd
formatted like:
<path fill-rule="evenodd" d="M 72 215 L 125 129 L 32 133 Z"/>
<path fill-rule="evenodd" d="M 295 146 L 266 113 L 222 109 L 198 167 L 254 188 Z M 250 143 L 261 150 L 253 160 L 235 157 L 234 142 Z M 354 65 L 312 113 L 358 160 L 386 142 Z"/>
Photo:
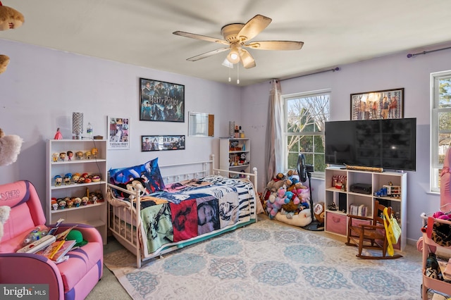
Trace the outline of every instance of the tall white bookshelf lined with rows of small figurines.
<path fill-rule="evenodd" d="M 47 223 L 60 218 L 99 230 L 106 243 L 106 166 L 104 139 L 47 141 Z"/>

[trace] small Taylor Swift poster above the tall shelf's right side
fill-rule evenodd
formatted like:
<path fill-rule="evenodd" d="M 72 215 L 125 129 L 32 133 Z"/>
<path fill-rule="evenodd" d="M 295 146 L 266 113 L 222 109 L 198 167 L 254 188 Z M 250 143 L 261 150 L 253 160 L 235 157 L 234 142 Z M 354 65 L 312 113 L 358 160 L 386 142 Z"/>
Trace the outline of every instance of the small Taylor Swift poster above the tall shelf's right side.
<path fill-rule="evenodd" d="M 108 149 L 130 149 L 130 118 L 108 117 Z"/>

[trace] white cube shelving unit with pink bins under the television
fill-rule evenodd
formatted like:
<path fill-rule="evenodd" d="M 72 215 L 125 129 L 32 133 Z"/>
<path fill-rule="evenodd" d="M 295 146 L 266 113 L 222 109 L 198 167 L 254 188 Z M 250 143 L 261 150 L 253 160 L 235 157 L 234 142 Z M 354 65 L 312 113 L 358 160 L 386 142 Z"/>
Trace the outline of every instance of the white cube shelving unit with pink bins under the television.
<path fill-rule="evenodd" d="M 338 178 L 345 183 L 343 188 L 340 183 L 334 186 L 333 179 Z M 393 214 L 397 218 L 401 227 L 401 237 L 395 249 L 403 250 L 407 242 L 407 173 L 397 172 L 369 172 L 360 170 L 347 170 L 342 168 L 326 168 L 325 178 L 325 231 L 338 235 L 347 234 L 347 213 L 351 213 L 350 207 L 366 206 L 366 216 L 372 217 L 374 209 L 374 201 L 393 208 Z M 384 185 L 393 185 L 400 187 L 395 189 L 394 196 L 375 196 L 375 192 Z M 351 192 L 352 185 L 364 184 L 367 189 L 360 192 Z M 366 192 L 368 194 L 366 194 Z M 328 206 L 334 203 L 336 211 L 330 210 Z"/>

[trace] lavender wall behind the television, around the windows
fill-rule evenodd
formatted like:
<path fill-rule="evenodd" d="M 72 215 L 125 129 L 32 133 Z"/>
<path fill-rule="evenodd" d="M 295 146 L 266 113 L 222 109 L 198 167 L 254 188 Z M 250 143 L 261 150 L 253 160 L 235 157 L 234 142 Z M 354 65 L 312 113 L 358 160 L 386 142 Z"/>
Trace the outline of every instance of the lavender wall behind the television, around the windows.
<path fill-rule="evenodd" d="M 450 44 L 435 46 L 441 49 Z M 428 50 L 428 49 L 426 49 Z M 424 49 L 421 49 L 424 51 Z M 407 237 L 416 242 L 421 236 L 420 214 L 438 211 L 440 195 L 429 192 L 430 165 L 430 76 L 451 70 L 451 49 L 407 58 L 405 52 L 369 61 L 339 65 L 338 72 L 319 73 L 282 80 L 282 94 L 331 89 L 331 120 L 350 120 L 350 94 L 404 87 L 404 118 L 416 118 L 416 172 L 407 174 Z M 264 170 L 264 139 L 268 111 L 269 82 L 244 87 L 242 91 L 243 125 L 252 138 L 252 158 L 259 173 Z M 258 149 L 258 150 L 256 150 Z M 264 182 L 260 176 L 259 182 Z M 324 181 L 313 180 L 314 201 L 324 200 Z"/>

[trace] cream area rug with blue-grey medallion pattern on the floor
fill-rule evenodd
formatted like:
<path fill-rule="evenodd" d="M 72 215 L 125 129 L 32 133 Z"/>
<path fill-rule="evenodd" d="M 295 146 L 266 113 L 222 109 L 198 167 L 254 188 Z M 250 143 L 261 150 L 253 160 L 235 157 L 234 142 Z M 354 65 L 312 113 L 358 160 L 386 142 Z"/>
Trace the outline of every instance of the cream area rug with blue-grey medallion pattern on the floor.
<path fill-rule="evenodd" d="M 127 250 L 104 262 L 133 299 L 421 299 L 421 253 L 363 260 L 357 248 L 273 220 L 187 246 L 135 268 Z"/>

